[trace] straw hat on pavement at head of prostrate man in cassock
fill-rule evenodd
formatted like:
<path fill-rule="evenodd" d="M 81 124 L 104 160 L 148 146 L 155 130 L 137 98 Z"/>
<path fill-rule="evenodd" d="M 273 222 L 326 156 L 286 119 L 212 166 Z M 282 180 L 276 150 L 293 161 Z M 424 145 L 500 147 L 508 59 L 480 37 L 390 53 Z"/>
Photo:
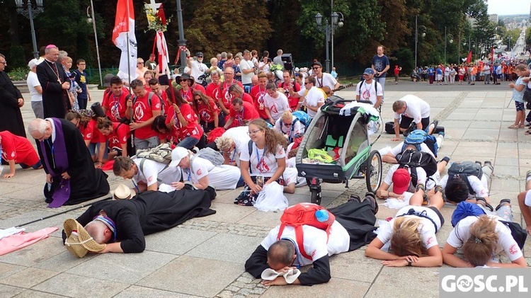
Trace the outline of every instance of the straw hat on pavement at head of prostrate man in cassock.
<path fill-rule="evenodd" d="M 103 251 L 106 244 L 100 244 L 92 238 L 88 231 L 76 221 L 69 218 L 63 223 L 64 233 L 67 234 L 67 241 L 64 245 L 67 250 L 78 258 L 83 258 L 89 251 Z"/>

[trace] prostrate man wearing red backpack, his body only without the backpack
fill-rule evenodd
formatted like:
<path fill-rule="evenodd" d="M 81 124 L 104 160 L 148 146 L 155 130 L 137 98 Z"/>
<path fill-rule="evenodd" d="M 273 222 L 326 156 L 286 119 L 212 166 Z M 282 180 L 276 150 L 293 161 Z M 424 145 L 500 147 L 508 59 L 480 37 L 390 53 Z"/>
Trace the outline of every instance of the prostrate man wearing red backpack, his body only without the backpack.
<path fill-rule="evenodd" d="M 328 210 L 334 215 L 330 234 L 323 229 L 303 224 L 303 243 L 297 243 L 295 228 L 285 226 L 279 240 L 280 225 L 271 229 L 268 236 L 253 251 L 245 262 L 245 270 L 260 278 L 264 272 L 275 270 L 280 276 L 273 280 L 263 280 L 262 285 L 317 285 L 329 282 L 331 268 L 329 257 L 338 253 L 354 251 L 374 239 L 375 214 L 378 211 L 375 197 L 367 194 L 364 200 L 354 195 L 356 200 L 349 200 L 338 207 Z M 304 204 L 304 203 L 303 203 Z M 292 207 L 298 207 L 297 205 Z M 299 249 L 304 247 L 309 259 Z M 285 278 L 283 274 L 295 270 L 299 266 L 312 265 L 295 279 Z M 267 271 L 266 271 L 267 270 Z"/>

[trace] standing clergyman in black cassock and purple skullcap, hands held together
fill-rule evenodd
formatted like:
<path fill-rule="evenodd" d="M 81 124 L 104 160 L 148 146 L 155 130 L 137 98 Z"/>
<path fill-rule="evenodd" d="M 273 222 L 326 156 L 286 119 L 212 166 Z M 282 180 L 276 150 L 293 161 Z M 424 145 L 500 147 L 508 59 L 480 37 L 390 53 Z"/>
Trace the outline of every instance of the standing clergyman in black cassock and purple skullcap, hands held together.
<path fill-rule="evenodd" d="M 57 62 L 59 48 L 47 45 L 45 60 L 37 66 L 37 77 L 42 87 L 42 108 L 45 118 L 64 118 L 72 108 L 68 98 L 70 79 Z"/>

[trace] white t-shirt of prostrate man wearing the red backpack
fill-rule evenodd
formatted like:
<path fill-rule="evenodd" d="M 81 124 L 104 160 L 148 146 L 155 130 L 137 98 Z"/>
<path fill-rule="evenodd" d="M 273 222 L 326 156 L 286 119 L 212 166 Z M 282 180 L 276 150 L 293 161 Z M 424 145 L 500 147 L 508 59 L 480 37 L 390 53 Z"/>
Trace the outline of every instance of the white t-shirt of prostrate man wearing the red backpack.
<path fill-rule="evenodd" d="M 266 251 L 277 241 L 279 230 L 280 225 L 271 229 L 268 236 L 265 236 L 265 239 L 260 243 Z M 319 258 L 326 255 L 333 256 L 338 253 L 344 253 L 348 251 L 350 246 L 350 236 L 348 235 L 347 230 L 337 221 L 333 222 L 332 227 L 330 228 L 328 243 L 326 243 L 326 231 L 317 229 L 316 227 L 304 225 L 302 226 L 302 234 L 304 235 L 304 243 L 302 243 L 304 251 L 309 256 L 312 256 L 314 260 L 319 260 Z M 290 239 L 297 243 L 295 228 L 286 226 L 284 231 L 282 231 L 280 239 Z M 305 266 L 313 263 L 312 260 L 304 258 L 302 254 L 298 253 L 298 244 L 295 249 L 297 250 L 297 260 L 295 261 L 297 265 Z"/>

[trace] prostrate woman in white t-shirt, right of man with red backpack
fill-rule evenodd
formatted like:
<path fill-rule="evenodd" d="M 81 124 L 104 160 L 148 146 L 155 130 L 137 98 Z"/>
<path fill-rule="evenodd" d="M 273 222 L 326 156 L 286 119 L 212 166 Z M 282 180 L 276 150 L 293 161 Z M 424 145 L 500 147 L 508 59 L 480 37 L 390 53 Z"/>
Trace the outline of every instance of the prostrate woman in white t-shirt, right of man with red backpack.
<path fill-rule="evenodd" d="M 435 188 L 436 193 L 427 207 L 422 206 L 424 190 L 417 188 L 409 200 L 410 206 L 401 208 L 389 224 L 379 228 L 379 234 L 367 246 L 365 256 L 383 260 L 382 265 L 389 267 L 442 265 L 435 233 L 445 222 L 439 211 L 445 202 L 440 185 Z M 381 250 L 388 241 L 391 241 L 392 253 Z"/>

